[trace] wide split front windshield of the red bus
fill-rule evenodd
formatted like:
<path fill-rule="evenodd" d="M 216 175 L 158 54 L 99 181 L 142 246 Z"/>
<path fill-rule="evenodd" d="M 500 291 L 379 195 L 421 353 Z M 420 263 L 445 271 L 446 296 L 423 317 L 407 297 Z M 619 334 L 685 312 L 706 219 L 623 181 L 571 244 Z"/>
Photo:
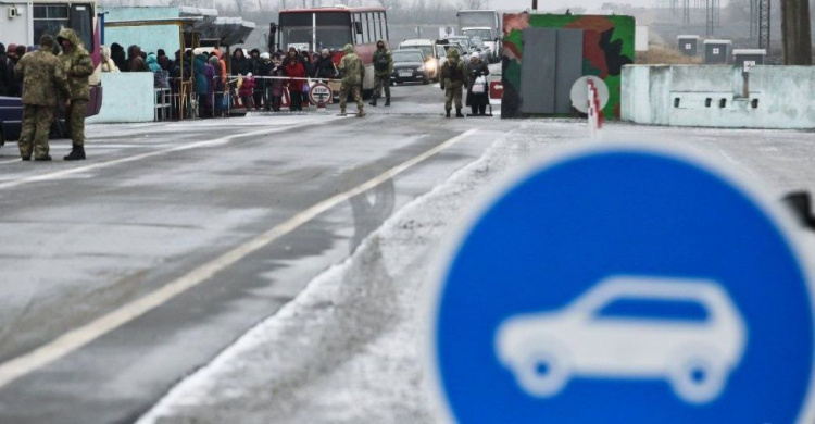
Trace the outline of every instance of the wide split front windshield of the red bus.
<path fill-rule="evenodd" d="M 280 45 L 284 49 L 294 47 L 312 51 L 341 50 L 346 45 L 353 43 L 351 15 L 342 12 L 281 13 L 280 29 Z M 313 46 L 312 37 L 315 35 L 316 46 Z"/>

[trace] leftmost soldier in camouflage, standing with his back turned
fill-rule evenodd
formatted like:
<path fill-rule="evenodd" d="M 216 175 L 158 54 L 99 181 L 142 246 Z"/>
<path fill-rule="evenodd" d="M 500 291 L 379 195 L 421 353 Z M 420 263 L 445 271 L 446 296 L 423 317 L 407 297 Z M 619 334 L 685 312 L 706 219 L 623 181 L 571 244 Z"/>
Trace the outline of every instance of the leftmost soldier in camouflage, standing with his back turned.
<path fill-rule="evenodd" d="M 20 155 L 24 161 L 50 161 L 48 135 L 53 123 L 58 91 L 71 99 L 71 89 L 62 63 L 54 54 L 57 42 L 50 35 L 39 40 L 39 50 L 20 59 L 14 77 L 23 82 L 23 129 L 20 134 Z M 34 146 L 32 146 L 32 144 Z"/>

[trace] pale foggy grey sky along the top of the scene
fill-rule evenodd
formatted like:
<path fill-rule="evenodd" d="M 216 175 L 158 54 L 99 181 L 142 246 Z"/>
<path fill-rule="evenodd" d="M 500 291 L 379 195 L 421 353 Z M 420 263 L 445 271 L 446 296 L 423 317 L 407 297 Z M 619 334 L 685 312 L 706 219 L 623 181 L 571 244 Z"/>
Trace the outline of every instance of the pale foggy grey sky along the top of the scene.
<path fill-rule="evenodd" d="M 734 41 L 735 48 L 757 48 L 757 29 L 750 32 L 750 0 L 720 0 L 719 20 L 714 34 L 706 37 L 705 0 L 689 0 L 690 24 L 682 23 L 684 0 L 539 0 L 539 13 L 617 14 L 631 15 L 638 25 L 649 27 L 651 43 L 674 46 L 677 35 L 692 34 L 702 38 L 724 38 Z M 815 0 L 810 0 L 815 15 Z M 455 12 L 461 9 L 497 9 L 500 12 L 522 12 L 531 7 L 531 0 L 100 0 L 102 5 L 190 5 L 217 9 L 222 16 L 241 16 L 256 24 L 256 29 L 246 47 L 266 45 L 268 24 L 277 22 L 280 9 L 318 5 L 379 5 L 388 10 L 390 43 L 396 47 L 404 38 L 438 38 L 439 28 L 455 27 Z M 773 49 L 780 49 L 780 2 L 772 1 Z M 662 5 L 662 8 L 657 8 Z M 815 16 L 814 16 L 815 17 Z M 770 52 L 772 54 L 772 52 Z"/>

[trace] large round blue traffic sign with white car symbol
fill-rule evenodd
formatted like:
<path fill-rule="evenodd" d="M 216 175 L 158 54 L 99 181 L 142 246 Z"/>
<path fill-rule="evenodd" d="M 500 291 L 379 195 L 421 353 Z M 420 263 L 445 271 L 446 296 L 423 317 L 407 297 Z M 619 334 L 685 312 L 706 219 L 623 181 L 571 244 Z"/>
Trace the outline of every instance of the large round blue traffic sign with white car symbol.
<path fill-rule="evenodd" d="M 453 244 L 429 359 L 461 423 L 811 423 L 813 301 L 779 207 L 631 146 L 534 166 Z"/>

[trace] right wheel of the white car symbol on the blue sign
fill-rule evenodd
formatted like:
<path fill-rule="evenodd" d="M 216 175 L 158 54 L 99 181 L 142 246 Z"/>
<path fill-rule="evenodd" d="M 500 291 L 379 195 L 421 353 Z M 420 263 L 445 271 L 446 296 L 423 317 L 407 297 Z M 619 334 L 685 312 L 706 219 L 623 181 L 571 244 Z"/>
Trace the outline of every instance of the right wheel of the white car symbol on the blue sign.
<path fill-rule="evenodd" d="M 669 379 L 677 397 L 688 403 L 707 403 L 722 394 L 727 372 L 715 359 L 693 356 L 672 369 Z"/>

